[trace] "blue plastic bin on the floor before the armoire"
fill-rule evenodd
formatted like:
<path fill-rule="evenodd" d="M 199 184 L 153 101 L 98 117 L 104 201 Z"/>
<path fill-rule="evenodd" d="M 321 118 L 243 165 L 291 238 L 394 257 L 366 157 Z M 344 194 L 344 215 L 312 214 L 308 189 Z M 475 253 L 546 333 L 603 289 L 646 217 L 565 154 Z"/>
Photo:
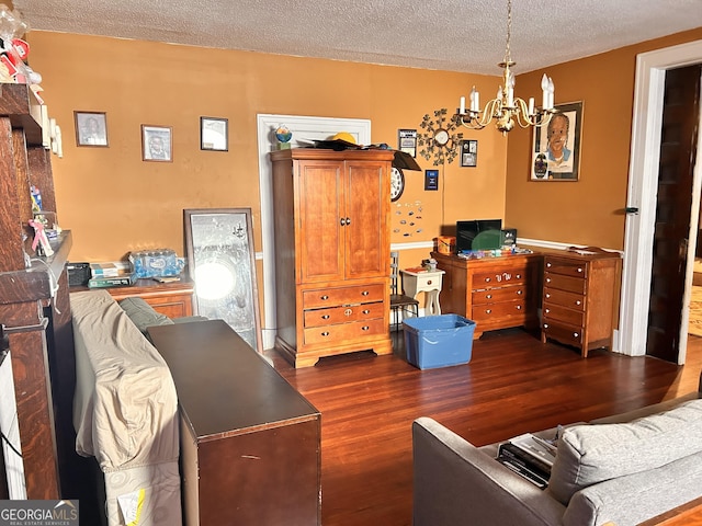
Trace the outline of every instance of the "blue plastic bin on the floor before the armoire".
<path fill-rule="evenodd" d="M 407 362 L 415 367 L 433 369 L 471 362 L 475 321 L 441 315 L 407 318 L 403 327 Z"/>

